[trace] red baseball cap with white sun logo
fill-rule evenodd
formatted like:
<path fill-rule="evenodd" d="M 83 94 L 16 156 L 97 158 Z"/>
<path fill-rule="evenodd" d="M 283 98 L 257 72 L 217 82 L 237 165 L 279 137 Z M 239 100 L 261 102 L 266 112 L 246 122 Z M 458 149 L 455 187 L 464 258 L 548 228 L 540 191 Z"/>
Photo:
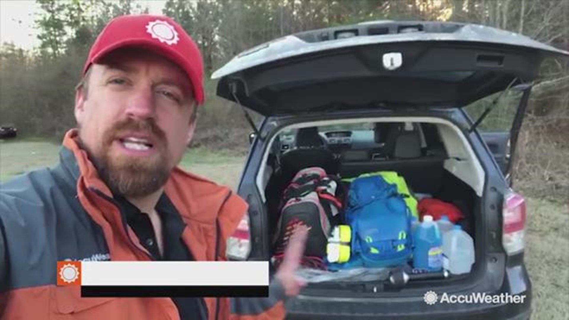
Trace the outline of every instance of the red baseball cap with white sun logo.
<path fill-rule="evenodd" d="M 93 43 L 83 67 L 122 47 L 143 47 L 178 64 L 192 83 L 197 104 L 204 102 L 201 54 L 192 38 L 172 18 L 164 15 L 122 15 L 110 20 Z"/>

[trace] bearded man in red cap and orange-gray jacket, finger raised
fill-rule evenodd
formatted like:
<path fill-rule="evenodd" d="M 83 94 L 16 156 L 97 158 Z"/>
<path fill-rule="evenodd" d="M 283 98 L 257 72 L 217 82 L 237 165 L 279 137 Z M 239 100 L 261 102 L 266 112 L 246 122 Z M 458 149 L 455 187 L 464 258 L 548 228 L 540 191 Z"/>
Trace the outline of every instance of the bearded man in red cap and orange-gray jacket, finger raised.
<path fill-rule="evenodd" d="M 3 317 L 283 318 L 282 299 L 303 285 L 294 271 L 305 229 L 269 298 L 80 298 L 76 286 L 55 286 L 58 260 L 225 260 L 247 209 L 229 188 L 176 167 L 204 92 L 200 53 L 174 20 L 113 19 L 83 75 L 59 165 L 0 186 Z"/>

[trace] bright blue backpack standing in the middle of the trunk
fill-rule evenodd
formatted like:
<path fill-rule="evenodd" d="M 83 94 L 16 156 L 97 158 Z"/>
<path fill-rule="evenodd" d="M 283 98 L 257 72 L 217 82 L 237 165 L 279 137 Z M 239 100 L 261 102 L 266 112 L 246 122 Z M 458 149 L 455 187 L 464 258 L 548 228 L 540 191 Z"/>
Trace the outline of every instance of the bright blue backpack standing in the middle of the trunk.
<path fill-rule="evenodd" d="M 352 229 L 351 255 L 361 260 L 356 264 L 397 266 L 410 259 L 411 212 L 395 184 L 379 175 L 353 180 L 345 220 Z"/>

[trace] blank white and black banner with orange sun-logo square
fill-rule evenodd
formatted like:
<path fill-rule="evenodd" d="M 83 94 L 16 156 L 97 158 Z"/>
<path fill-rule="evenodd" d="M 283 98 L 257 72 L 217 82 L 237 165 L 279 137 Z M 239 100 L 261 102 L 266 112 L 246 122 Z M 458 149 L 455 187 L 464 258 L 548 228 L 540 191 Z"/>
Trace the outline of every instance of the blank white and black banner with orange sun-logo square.
<path fill-rule="evenodd" d="M 57 261 L 82 297 L 267 297 L 268 261 Z"/>

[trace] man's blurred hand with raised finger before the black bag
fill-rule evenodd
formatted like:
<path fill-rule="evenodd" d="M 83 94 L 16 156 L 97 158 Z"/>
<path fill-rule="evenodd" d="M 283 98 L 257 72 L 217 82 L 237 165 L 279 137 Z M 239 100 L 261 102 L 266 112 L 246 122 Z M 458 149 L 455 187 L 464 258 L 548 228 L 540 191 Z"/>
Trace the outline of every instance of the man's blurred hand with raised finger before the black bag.
<path fill-rule="evenodd" d="M 287 296 L 296 296 L 300 289 L 306 285 L 304 280 L 295 276 L 295 272 L 300 265 L 300 258 L 302 258 L 304 253 L 307 236 L 308 228 L 299 227 L 295 230 L 284 250 L 283 262 L 275 274 L 275 277 L 281 281 L 284 294 Z"/>

